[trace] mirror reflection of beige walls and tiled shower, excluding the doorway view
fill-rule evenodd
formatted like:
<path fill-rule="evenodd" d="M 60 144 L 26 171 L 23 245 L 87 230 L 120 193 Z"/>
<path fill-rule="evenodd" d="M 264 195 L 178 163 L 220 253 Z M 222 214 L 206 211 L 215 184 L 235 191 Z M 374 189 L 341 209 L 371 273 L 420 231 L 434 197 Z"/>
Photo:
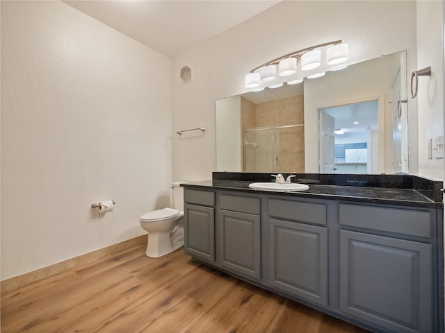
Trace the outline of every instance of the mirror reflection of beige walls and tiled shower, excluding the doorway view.
<path fill-rule="evenodd" d="M 266 88 L 216 101 L 216 171 L 343 172 L 338 167 L 330 171 L 321 167 L 318 110 L 378 101 L 378 135 L 373 142 L 366 142 L 367 147 L 373 145 L 372 151 L 378 151 L 378 156 L 370 157 L 366 171 L 356 172 L 407 173 L 407 103 L 401 103 L 407 98 L 406 82 L 406 51 L 401 51 L 330 71 L 323 78 L 305 79 L 295 86 Z M 289 105 L 292 103 L 296 106 Z M 284 130 L 244 137 L 246 129 L 303 123 L 296 130 L 298 139 Z M 270 139 L 270 149 L 264 150 L 259 135 Z M 266 155 L 261 155 L 263 151 Z"/>

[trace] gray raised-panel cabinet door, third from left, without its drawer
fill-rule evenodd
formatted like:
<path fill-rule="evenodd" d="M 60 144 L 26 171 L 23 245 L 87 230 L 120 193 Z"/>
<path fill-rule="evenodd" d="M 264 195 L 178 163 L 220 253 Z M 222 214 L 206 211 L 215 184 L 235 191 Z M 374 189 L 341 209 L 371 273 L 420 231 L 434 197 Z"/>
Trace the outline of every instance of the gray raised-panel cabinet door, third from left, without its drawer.
<path fill-rule="evenodd" d="M 269 219 L 270 285 L 327 305 L 327 228 Z"/>

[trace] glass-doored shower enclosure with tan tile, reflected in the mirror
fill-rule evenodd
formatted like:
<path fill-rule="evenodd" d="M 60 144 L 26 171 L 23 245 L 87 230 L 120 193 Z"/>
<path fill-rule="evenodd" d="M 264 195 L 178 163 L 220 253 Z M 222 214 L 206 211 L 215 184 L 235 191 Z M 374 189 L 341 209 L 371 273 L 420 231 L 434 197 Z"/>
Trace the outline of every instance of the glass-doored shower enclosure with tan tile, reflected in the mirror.
<path fill-rule="evenodd" d="M 304 172 L 304 125 L 243 129 L 243 171 Z"/>

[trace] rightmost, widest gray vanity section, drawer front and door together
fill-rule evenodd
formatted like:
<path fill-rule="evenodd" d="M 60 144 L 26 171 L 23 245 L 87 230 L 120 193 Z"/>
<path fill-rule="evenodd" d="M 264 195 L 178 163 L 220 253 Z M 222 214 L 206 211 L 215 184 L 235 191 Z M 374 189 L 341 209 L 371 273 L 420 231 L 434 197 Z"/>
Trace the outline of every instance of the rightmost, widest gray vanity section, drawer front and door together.
<path fill-rule="evenodd" d="M 340 310 L 389 332 L 433 332 L 431 214 L 339 205 Z M 419 228 L 420 227 L 420 228 Z M 372 234 L 403 232 L 394 237 Z M 396 238 L 397 237 L 397 238 Z"/>

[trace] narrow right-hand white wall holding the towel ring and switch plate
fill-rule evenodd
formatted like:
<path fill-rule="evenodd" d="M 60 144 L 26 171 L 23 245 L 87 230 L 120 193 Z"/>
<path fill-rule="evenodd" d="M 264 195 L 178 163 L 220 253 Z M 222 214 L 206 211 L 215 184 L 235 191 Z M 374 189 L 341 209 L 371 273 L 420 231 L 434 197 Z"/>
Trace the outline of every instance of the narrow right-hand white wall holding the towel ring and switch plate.
<path fill-rule="evenodd" d="M 444 159 L 428 159 L 428 139 L 444 135 L 444 1 L 417 1 L 417 68 L 431 66 L 419 77 L 419 174 L 444 178 Z M 411 76 L 410 76 L 411 78 Z M 410 88 L 409 88 L 410 89 Z M 411 98 L 411 97 L 410 97 Z"/>

